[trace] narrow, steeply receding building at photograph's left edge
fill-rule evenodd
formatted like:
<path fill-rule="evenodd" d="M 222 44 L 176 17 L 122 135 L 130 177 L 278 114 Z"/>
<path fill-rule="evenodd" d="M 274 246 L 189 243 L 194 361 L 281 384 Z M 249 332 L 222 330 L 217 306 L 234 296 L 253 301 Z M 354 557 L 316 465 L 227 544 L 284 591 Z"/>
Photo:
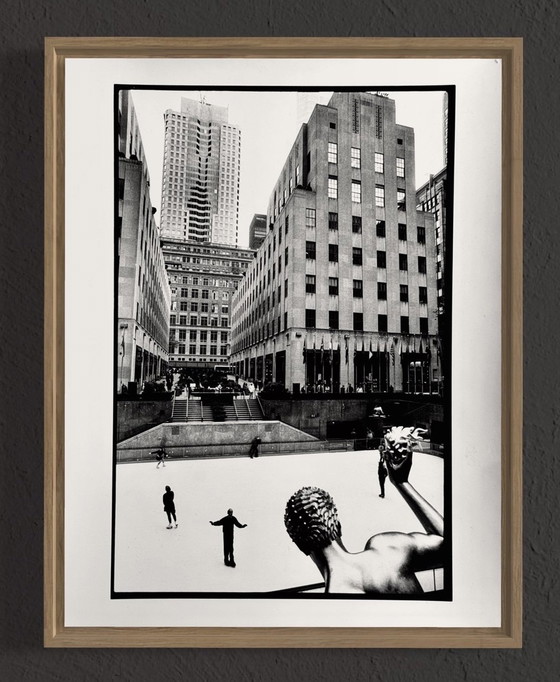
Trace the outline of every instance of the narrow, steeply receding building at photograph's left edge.
<path fill-rule="evenodd" d="M 130 93 L 119 94 L 118 111 L 118 371 L 117 390 L 141 389 L 161 376 L 168 362 L 167 282 L 150 176 Z M 132 385 L 129 386 L 129 382 Z"/>

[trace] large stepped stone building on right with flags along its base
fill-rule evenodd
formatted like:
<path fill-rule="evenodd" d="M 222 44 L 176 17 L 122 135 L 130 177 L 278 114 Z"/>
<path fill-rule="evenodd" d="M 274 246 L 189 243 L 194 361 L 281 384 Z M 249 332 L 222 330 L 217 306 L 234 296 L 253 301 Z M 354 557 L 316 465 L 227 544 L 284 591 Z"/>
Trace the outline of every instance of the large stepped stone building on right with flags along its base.
<path fill-rule="evenodd" d="M 237 373 L 294 392 L 435 390 L 434 218 L 416 210 L 414 130 L 395 102 L 353 92 L 316 106 L 267 222 L 232 302 Z"/>

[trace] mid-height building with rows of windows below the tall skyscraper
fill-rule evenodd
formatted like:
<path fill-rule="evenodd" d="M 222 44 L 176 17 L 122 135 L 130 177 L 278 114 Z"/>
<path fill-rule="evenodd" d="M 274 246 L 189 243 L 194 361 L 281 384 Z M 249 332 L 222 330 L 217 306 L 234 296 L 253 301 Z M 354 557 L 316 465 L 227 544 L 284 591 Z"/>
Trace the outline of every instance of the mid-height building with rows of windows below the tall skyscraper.
<path fill-rule="evenodd" d="M 170 365 L 224 368 L 231 299 L 255 252 L 165 237 L 162 249 L 171 286 Z"/>

